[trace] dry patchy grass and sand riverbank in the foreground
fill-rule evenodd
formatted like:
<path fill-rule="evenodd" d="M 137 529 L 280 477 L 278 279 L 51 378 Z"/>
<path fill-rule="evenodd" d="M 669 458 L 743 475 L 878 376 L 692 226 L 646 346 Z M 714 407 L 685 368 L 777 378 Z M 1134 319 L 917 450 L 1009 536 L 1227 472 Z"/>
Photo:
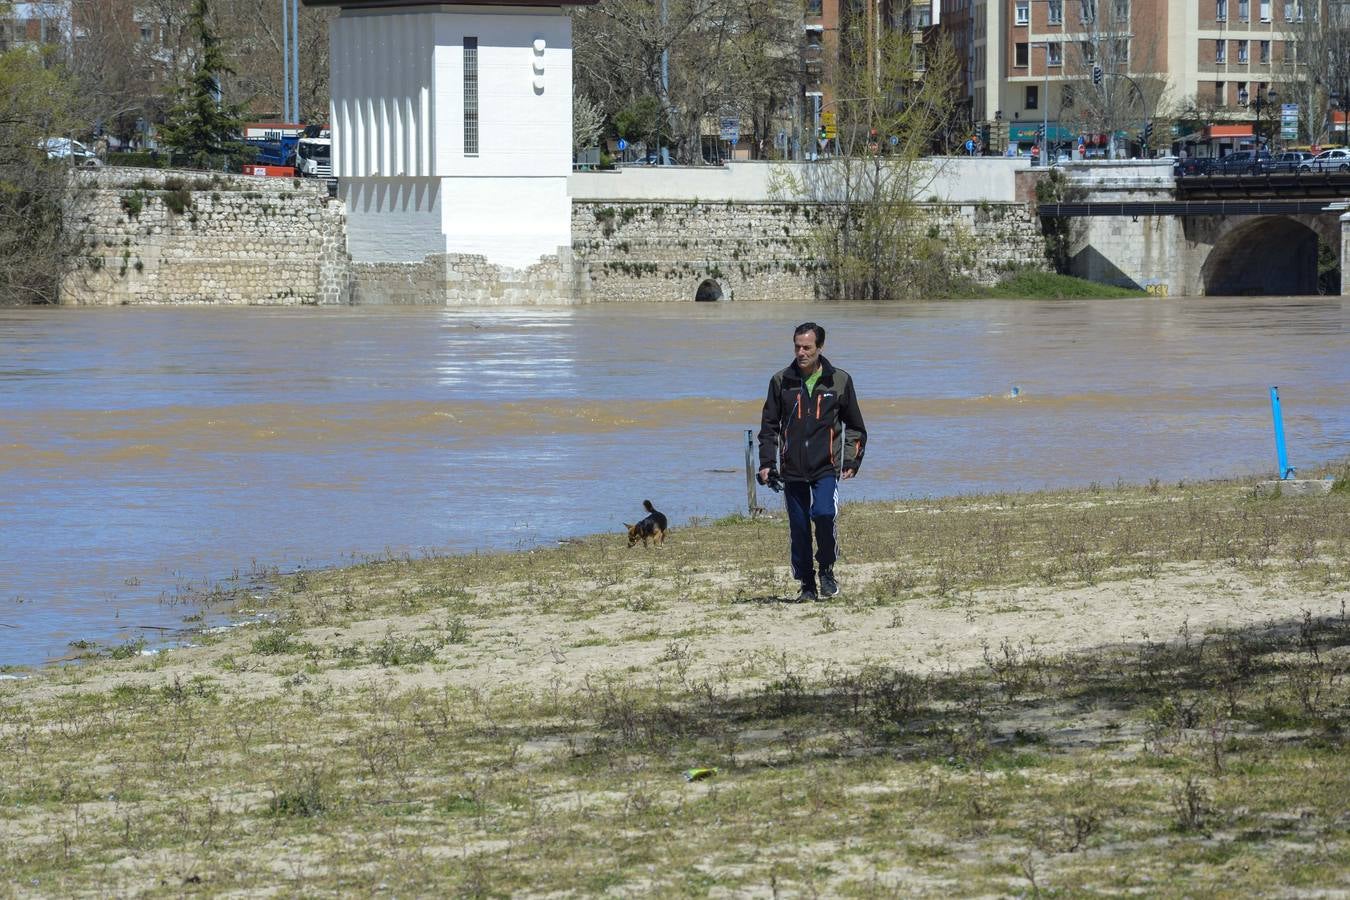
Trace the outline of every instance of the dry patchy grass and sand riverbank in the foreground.
<path fill-rule="evenodd" d="M 1346 892 L 1347 513 L 1233 482 L 855 505 L 815 606 L 740 519 L 308 572 L 200 648 L 0 683 L 0 877 Z"/>

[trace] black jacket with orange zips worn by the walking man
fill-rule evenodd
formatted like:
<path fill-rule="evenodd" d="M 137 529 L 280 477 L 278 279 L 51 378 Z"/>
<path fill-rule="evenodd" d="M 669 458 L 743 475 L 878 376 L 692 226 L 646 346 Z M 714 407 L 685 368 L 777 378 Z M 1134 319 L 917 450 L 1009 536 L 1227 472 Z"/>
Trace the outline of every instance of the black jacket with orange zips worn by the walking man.
<path fill-rule="evenodd" d="M 815 390 L 806 393 L 794 362 L 768 382 L 760 418 L 760 468 L 778 467 L 784 480 L 814 482 L 863 461 L 867 428 L 853 379 L 821 356 Z M 848 428 L 848 443 L 844 428 Z"/>

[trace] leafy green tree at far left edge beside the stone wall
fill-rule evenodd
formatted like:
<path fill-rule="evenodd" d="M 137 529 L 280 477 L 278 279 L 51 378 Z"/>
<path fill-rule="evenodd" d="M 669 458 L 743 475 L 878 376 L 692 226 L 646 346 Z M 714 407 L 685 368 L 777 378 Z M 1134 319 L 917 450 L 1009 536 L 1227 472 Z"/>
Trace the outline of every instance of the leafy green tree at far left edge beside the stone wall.
<path fill-rule="evenodd" d="M 69 138 L 77 90 L 43 51 L 0 53 L 0 305 L 57 301 L 77 237 L 66 228 L 72 159 L 47 159 Z"/>

